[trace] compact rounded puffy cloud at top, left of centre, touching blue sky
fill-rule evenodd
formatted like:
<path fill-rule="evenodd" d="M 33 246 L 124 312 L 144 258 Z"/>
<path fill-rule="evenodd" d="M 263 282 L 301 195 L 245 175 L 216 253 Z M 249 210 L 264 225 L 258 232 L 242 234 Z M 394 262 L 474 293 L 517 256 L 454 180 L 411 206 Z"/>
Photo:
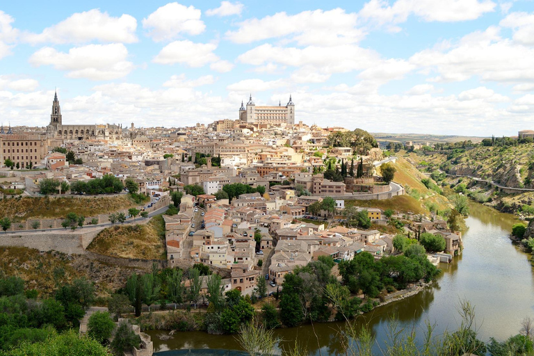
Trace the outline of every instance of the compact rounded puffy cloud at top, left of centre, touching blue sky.
<path fill-rule="evenodd" d="M 201 12 L 195 6 L 168 3 L 143 19 L 143 29 L 155 41 L 174 40 L 181 33 L 198 35 L 206 25 L 200 19 Z"/>

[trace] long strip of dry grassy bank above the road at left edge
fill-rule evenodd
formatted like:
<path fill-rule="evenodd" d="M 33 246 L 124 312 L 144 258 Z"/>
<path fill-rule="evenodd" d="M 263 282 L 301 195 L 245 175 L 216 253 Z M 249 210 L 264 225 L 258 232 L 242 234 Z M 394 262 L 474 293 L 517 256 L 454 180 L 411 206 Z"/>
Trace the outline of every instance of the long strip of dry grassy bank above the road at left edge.
<path fill-rule="evenodd" d="M 67 213 L 96 216 L 136 206 L 127 195 L 118 197 L 16 197 L 0 200 L 0 217 L 64 218 Z"/>

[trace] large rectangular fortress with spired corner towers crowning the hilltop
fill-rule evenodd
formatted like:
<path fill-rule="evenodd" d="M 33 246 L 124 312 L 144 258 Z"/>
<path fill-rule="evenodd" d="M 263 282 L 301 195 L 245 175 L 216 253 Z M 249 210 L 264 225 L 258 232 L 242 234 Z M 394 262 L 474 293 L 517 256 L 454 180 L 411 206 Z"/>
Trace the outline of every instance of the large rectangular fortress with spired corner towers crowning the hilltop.
<path fill-rule="evenodd" d="M 241 122 L 251 124 L 295 124 L 295 104 L 289 95 L 289 102 L 286 106 L 282 106 L 279 102 L 278 106 L 256 106 L 252 102 L 252 95 L 248 100 L 247 107 L 239 108 L 239 120 Z"/>

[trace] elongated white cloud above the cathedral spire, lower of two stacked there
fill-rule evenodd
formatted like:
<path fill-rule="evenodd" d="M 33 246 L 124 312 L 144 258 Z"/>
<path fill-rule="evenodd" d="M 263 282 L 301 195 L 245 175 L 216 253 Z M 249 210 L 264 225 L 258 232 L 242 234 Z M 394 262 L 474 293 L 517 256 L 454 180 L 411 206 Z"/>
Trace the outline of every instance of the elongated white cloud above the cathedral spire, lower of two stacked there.
<path fill-rule="evenodd" d="M 32 65 L 52 65 L 56 70 L 67 71 L 70 78 L 108 80 L 126 76 L 133 70 L 127 61 L 124 44 L 88 44 L 74 47 L 68 53 L 51 47 L 39 49 L 29 59 Z"/>

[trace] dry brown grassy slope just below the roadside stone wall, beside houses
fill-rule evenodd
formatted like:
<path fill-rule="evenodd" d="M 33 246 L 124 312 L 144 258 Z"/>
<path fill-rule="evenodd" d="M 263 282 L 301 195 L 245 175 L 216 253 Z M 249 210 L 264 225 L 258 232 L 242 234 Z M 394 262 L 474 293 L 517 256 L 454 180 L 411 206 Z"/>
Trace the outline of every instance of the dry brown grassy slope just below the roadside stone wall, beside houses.
<path fill-rule="evenodd" d="M 155 216 L 146 225 L 116 225 L 104 229 L 87 249 L 113 257 L 165 259 L 163 218 Z"/>

